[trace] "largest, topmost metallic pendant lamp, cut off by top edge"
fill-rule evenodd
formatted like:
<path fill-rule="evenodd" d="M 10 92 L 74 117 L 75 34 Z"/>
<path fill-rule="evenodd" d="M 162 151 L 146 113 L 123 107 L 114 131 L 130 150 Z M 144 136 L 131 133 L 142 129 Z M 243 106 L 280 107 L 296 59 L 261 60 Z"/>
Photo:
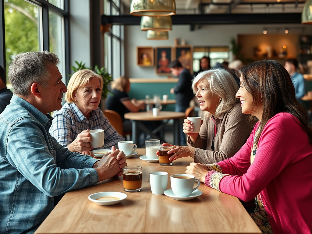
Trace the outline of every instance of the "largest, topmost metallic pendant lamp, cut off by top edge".
<path fill-rule="evenodd" d="M 135 16 L 175 15 L 175 0 L 131 0 L 130 14 Z"/>

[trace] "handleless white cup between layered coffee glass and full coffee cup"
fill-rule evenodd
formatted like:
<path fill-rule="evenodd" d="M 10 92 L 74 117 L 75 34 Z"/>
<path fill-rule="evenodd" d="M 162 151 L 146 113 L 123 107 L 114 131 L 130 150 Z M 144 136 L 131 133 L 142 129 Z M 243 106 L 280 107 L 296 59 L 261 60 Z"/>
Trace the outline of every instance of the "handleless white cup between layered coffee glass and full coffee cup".
<path fill-rule="evenodd" d="M 163 171 L 149 173 L 149 183 L 154 195 L 162 195 L 167 190 L 168 173 Z"/>

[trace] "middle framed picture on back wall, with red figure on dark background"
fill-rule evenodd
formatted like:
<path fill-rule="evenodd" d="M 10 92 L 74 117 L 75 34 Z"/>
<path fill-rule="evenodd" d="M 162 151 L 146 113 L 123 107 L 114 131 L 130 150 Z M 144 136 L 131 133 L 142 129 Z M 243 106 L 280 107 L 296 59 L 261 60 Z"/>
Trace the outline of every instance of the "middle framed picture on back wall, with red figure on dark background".
<path fill-rule="evenodd" d="M 172 61 L 172 47 L 155 48 L 155 73 L 156 75 L 170 75 L 169 64 Z"/>

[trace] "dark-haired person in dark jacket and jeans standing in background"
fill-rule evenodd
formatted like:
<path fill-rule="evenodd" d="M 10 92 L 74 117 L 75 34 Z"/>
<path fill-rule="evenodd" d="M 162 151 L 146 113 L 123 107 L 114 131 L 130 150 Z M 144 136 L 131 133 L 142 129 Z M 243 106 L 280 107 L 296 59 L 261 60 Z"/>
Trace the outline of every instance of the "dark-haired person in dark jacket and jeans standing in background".
<path fill-rule="evenodd" d="M 175 60 L 169 65 L 171 74 L 179 78 L 177 86 L 170 90 L 170 93 L 174 93 L 176 96 L 176 112 L 185 112 L 189 107 L 190 101 L 193 98 L 192 91 L 192 79 L 191 73 L 185 69 L 178 60 Z M 181 123 L 181 144 L 186 144 L 185 134 L 183 133 L 183 123 Z"/>

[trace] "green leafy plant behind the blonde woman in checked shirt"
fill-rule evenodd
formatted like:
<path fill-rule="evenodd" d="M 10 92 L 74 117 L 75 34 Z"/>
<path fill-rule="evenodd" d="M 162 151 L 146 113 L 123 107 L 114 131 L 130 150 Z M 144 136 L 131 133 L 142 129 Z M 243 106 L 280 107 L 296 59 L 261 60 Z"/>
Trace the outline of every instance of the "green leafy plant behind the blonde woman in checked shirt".
<path fill-rule="evenodd" d="M 76 72 L 79 71 L 81 69 L 90 69 L 95 71 L 95 73 L 101 75 L 103 77 L 103 90 L 102 90 L 102 98 L 106 99 L 107 95 L 110 93 L 110 89 L 109 89 L 109 85 L 110 82 L 113 80 L 113 78 L 108 74 L 107 70 L 105 69 L 105 67 L 101 67 L 99 68 L 99 66 L 95 65 L 94 69 L 92 67 L 86 67 L 85 63 L 82 64 L 82 61 L 79 63 L 77 61 L 75 61 L 77 66 L 71 66 L 71 69 Z M 71 76 L 71 75 L 69 75 Z"/>

